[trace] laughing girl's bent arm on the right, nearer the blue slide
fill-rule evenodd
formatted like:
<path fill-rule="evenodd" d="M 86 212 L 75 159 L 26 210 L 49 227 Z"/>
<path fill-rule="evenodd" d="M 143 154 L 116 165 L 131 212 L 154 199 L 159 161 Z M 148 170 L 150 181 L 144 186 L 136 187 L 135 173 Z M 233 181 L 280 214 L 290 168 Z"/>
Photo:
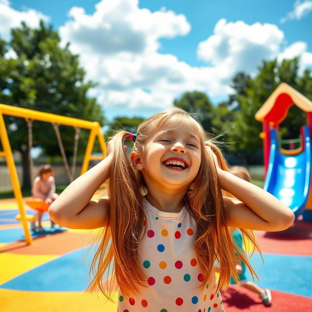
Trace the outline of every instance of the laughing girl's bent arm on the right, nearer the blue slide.
<path fill-rule="evenodd" d="M 221 188 L 236 197 L 224 197 L 229 226 L 282 231 L 292 225 L 292 210 L 272 194 L 220 168 L 217 171 Z"/>

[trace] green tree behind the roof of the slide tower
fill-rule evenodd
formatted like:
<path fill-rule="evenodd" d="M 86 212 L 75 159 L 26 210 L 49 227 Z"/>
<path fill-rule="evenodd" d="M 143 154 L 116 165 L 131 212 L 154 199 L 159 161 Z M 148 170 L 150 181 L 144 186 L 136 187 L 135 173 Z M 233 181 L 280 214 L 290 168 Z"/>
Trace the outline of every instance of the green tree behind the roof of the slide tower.
<path fill-rule="evenodd" d="M 285 59 L 280 63 L 276 59 L 263 61 L 257 76 L 248 77 L 241 92 L 236 94 L 239 114 L 236 115 L 236 126 L 229 133 L 229 137 L 238 142 L 233 146 L 234 149 L 248 151 L 246 158 L 249 162 L 252 161 L 254 151 L 262 149 L 262 140 L 259 138 L 262 126 L 255 120 L 254 115 L 281 82 L 288 83 L 312 99 L 311 71 L 306 70 L 300 76 L 297 58 Z M 298 109 L 290 110 L 288 118 L 280 127 L 282 134 L 287 132 L 293 135 L 294 129 L 302 123 L 299 115 L 303 118 L 305 114 Z"/>

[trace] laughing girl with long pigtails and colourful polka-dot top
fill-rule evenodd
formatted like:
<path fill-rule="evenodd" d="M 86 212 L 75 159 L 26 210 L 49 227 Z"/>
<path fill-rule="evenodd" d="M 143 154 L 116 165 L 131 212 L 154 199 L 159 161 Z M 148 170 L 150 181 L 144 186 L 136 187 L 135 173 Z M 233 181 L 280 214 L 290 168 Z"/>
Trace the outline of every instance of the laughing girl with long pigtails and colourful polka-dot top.
<path fill-rule="evenodd" d="M 123 144 L 132 137 L 118 132 L 107 157 L 50 206 L 51 218 L 68 228 L 104 227 L 89 288 L 111 299 L 117 281 L 119 312 L 223 311 L 218 290 L 231 275 L 238 280 L 234 250 L 252 270 L 228 227 L 253 239 L 245 229 L 286 229 L 292 211 L 230 174 L 202 126 L 181 109 L 144 120 L 129 161 Z M 108 178 L 109 196 L 92 200 Z"/>

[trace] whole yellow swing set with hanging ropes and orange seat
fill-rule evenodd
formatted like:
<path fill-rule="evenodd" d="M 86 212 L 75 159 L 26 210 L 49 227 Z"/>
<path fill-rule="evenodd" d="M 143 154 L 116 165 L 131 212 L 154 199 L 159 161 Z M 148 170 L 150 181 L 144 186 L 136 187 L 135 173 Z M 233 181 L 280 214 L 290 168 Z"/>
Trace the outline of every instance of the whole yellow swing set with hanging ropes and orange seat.
<path fill-rule="evenodd" d="M 66 173 L 70 182 L 73 181 L 74 174 L 75 174 L 80 129 L 81 128 L 90 129 L 89 139 L 88 139 L 85 155 L 83 158 L 80 175 L 82 175 L 88 170 L 90 160 L 101 160 L 106 157 L 106 145 L 105 145 L 104 137 L 101 133 L 100 124 L 98 122 L 87 121 L 87 120 L 72 118 L 72 117 L 64 117 L 64 116 L 60 116 L 56 114 L 44 113 L 44 112 L 39 112 L 39 111 L 31 110 L 31 109 L 0 104 L 0 140 L 1 140 L 2 148 L 3 148 L 3 151 L 0 151 L 0 157 L 4 157 L 6 160 L 9 173 L 10 173 L 12 186 L 13 186 L 14 197 L 18 203 L 19 212 L 20 212 L 20 215 L 17 215 L 17 219 L 20 219 L 22 223 L 24 236 L 25 236 L 25 240 L 27 244 L 31 245 L 32 237 L 31 237 L 31 234 L 28 228 L 28 223 L 27 223 L 27 221 L 29 221 L 31 218 L 27 216 L 25 213 L 23 197 L 22 197 L 22 193 L 20 189 L 20 182 L 19 182 L 19 178 L 17 175 L 17 170 L 16 170 L 14 159 L 13 159 L 12 149 L 11 149 L 9 137 L 6 131 L 3 115 L 21 117 L 21 118 L 24 118 L 25 121 L 27 122 L 29 154 L 33 147 L 33 136 L 32 136 L 33 121 L 38 120 L 38 121 L 44 121 L 44 122 L 51 122 L 56 132 L 60 153 L 62 155 Z M 62 140 L 61 140 L 61 136 L 59 133 L 59 125 L 72 126 L 75 128 L 74 155 L 73 155 L 73 163 L 72 163 L 71 170 L 69 169 L 67 157 L 66 157 L 64 147 L 62 144 Z M 102 156 L 91 155 L 93 148 L 94 148 L 95 139 L 97 137 L 98 137 L 99 146 L 102 152 Z M 29 155 L 29 162 L 30 162 L 31 180 L 33 183 L 33 180 L 34 180 L 32 176 L 33 160 L 30 155 Z M 46 210 L 46 207 L 45 208 L 43 207 L 44 205 L 42 204 L 42 202 L 33 203 L 33 201 L 34 200 L 29 201 L 29 202 L 26 201 L 26 203 L 28 203 L 28 205 L 32 207 L 33 209 L 36 209 L 36 210 L 45 209 Z"/>

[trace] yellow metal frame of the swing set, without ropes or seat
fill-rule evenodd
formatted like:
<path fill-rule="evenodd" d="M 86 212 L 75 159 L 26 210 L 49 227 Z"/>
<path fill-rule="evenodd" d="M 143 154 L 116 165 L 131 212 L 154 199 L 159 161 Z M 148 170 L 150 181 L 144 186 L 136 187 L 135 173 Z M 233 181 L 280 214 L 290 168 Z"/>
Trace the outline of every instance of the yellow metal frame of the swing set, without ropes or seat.
<path fill-rule="evenodd" d="M 44 122 L 54 122 L 58 125 L 73 126 L 78 128 L 90 129 L 88 144 L 83 158 L 80 175 L 88 170 L 90 160 L 101 160 L 106 157 L 106 145 L 104 137 L 101 133 L 100 124 L 96 121 L 87 121 L 78 118 L 64 117 L 56 114 L 39 112 L 31 109 L 20 108 L 11 105 L 0 104 L 0 139 L 3 151 L 0 151 L 0 157 L 4 157 L 9 169 L 10 178 L 13 186 L 14 197 L 18 203 L 20 211 L 20 219 L 27 244 L 31 245 L 33 240 L 28 228 L 26 213 L 23 203 L 23 196 L 20 189 L 20 182 L 16 171 L 15 162 L 13 159 L 12 149 L 9 137 L 6 131 L 3 115 L 21 117 L 31 120 L 39 120 Z M 98 137 L 98 142 L 103 153 L 102 156 L 91 156 L 95 139 Z"/>

